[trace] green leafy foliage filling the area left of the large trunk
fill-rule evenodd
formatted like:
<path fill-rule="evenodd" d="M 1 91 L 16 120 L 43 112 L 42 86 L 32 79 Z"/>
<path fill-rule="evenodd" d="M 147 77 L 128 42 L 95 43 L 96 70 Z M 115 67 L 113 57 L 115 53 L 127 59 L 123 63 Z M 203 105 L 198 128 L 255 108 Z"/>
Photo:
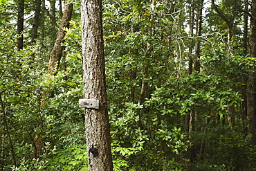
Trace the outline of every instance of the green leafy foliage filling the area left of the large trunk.
<path fill-rule="evenodd" d="M 80 53 L 68 53 L 65 59 L 68 64 L 61 66 L 65 72 L 48 78 L 35 47 L 18 51 L 15 38 L 13 30 L 1 29 L 1 167 L 6 170 L 86 170 L 83 111 L 77 104 L 77 99 L 82 97 Z M 55 96 L 47 98 L 41 108 L 44 90 Z M 43 159 L 33 159 L 36 132 L 44 133 L 44 140 L 57 147 L 49 151 L 46 144 Z M 17 160 L 13 167 L 11 143 Z"/>

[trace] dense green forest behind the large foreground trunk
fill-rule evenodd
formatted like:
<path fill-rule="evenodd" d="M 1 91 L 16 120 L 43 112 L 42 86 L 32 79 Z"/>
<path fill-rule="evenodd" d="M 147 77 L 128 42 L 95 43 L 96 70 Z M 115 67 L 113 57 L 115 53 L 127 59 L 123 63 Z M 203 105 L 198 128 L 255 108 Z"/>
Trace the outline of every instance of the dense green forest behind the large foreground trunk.
<path fill-rule="evenodd" d="M 256 1 L 102 3 L 114 170 L 256 170 Z M 0 170 L 87 170 L 80 9 L 0 1 Z"/>

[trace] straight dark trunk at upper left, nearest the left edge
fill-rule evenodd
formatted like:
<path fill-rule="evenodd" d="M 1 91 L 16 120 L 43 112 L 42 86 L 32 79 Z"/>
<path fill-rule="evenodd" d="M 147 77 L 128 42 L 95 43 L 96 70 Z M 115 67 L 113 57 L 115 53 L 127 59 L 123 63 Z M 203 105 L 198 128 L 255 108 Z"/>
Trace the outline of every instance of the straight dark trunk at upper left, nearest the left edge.
<path fill-rule="evenodd" d="M 23 48 L 23 30 L 24 30 L 24 0 L 18 1 L 18 21 L 17 21 L 17 33 L 19 35 L 17 39 L 17 48 Z"/>

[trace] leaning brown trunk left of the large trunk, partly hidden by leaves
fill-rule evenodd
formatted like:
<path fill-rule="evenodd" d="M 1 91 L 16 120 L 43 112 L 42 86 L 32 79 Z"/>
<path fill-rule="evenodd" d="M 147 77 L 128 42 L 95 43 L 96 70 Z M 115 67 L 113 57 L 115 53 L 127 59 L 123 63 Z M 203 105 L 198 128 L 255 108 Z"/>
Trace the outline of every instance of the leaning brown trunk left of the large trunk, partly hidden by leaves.
<path fill-rule="evenodd" d="M 73 3 L 67 2 L 64 7 L 64 14 L 62 16 L 62 21 L 60 24 L 59 31 L 57 33 L 57 39 L 55 42 L 55 46 L 53 47 L 53 51 L 50 54 L 50 60 L 48 64 L 48 77 L 53 77 L 57 73 L 57 69 L 60 65 L 60 60 L 62 57 L 62 51 L 64 46 L 62 46 L 62 43 L 64 42 L 64 37 L 66 35 L 64 28 L 68 28 L 69 21 L 71 20 L 71 15 L 73 12 Z M 51 79 L 49 79 L 51 80 Z M 51 94 L 50 91 L 44 91 L 43 97 L 47 98 Z M 40 104 L 40 108 L 44 108 L 46 104 L 46 100 L 42 100 Z M 39 125 L 40 129 L 42 129 L 42 125 Z M 42 135 L 42 132 L 38 132 L 35 135 L 35 143 L 34 143 L 34 157 L 39 158 L 43 154 L 42 147 L 44 145 L 44 137 Z"/>

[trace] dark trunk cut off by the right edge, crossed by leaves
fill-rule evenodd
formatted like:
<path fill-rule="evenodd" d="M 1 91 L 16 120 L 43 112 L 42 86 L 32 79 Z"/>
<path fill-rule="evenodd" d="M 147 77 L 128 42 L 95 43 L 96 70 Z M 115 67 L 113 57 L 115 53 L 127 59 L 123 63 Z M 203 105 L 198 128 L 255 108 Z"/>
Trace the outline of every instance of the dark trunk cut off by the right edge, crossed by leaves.
<path fill-rule="evenodd" d="M 250 17 L 250 57 L 256 57 L 256 0 L 251 1 Z M 250 144 L 256 145 L 255 132 L 255 67 L 250 67 L 247 81 L 247 116 L 248 116 L 248 135 Z"/>

